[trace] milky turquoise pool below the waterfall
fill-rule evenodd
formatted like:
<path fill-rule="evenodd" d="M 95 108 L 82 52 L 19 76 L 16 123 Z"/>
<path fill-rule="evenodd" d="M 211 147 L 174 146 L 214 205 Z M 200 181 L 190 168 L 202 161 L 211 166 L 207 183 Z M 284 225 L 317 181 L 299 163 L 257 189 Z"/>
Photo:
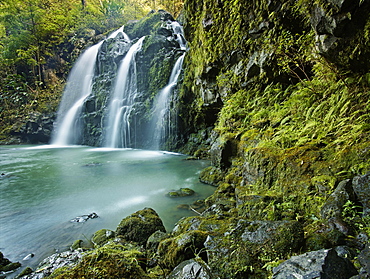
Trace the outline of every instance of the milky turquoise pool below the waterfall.
<path fill-rule="evenodd" d="M 207 161 L 161 151 L 51 146 L 0 147 L 0 251 L 23 267 L 87 240 L 97 230 L 115 230 L 122 218 L 152 207 L 171 230 L 192 212 L 178 204 L 206 198 L 214 187 L 199 182 Z M 188 187 L 186 198 L 166 193 Z M 95 212 L 85 223 L 71 219 Z M 28 254 L 35 257 L 22 261 Z"/>

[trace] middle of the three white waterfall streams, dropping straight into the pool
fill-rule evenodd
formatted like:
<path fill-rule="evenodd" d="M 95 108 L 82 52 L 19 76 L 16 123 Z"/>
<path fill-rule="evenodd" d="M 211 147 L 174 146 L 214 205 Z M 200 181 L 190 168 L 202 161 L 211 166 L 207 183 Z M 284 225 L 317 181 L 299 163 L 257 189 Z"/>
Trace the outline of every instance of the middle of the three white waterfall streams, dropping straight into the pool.
<path fill-rule="evenodd" d="M 130 147 L 130 116 L 133 110 L 136 87 L 135 55 L 140 51 L 145 37 L 133 44 L 121 62 L 116 77 L 113 95 L 108 106 L 106 147 Z"/>

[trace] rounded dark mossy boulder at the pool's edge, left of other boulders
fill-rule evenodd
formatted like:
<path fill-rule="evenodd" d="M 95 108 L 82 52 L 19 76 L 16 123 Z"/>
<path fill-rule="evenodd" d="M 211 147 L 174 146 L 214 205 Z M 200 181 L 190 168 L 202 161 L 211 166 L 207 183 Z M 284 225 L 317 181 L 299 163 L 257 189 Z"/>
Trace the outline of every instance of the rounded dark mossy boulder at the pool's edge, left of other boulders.
<path fill-rule="evenodd" d="M 156 231 L 166 232 L 161 218 L 152 208 L 144 208 L 122 219 L 116 235 L 127 241 L 145 244 Z"/>

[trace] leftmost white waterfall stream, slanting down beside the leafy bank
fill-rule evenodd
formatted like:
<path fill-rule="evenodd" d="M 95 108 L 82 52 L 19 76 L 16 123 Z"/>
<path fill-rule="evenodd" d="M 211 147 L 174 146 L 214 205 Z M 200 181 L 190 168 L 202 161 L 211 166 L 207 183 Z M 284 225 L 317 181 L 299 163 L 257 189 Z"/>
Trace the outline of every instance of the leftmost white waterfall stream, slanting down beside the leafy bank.
<path fill-rule="evenodd" d="M 67 79 L 60 103 L 56 130 L 53 132 L 53 145 L 76 144 L 80 127 L 78 125 L 81 109 L 91 94 L 96 57 L 103 42 L 88 48 L 76 61 Z"/>

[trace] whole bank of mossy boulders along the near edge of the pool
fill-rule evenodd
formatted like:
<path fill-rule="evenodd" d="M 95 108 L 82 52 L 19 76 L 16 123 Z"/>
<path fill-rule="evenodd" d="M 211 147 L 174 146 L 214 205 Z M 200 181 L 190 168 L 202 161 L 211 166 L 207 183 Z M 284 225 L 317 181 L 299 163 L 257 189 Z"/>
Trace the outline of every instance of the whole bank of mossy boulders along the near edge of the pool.
<path fill-rule="evenodd" d="M 17 278 L 370 278 L 369 237 L 353 232 L 346 213 L 350 201 L 369 217 L 369 181 L 370 173 L 340 182 L 311 233 L 299 220 L 238 216 L 235 200 L 241 197 L 220 186 L 203 213 L 181 219 L 171 232 L 153 209 L 144 208 L 115 231 L 97 231 L 93 248 L 77 240 L 70 251 L 49 256 Z M 231 197 L 234 206 L 227 202 Z M 268 197 L 243 199 L 256 211 Z"/>

